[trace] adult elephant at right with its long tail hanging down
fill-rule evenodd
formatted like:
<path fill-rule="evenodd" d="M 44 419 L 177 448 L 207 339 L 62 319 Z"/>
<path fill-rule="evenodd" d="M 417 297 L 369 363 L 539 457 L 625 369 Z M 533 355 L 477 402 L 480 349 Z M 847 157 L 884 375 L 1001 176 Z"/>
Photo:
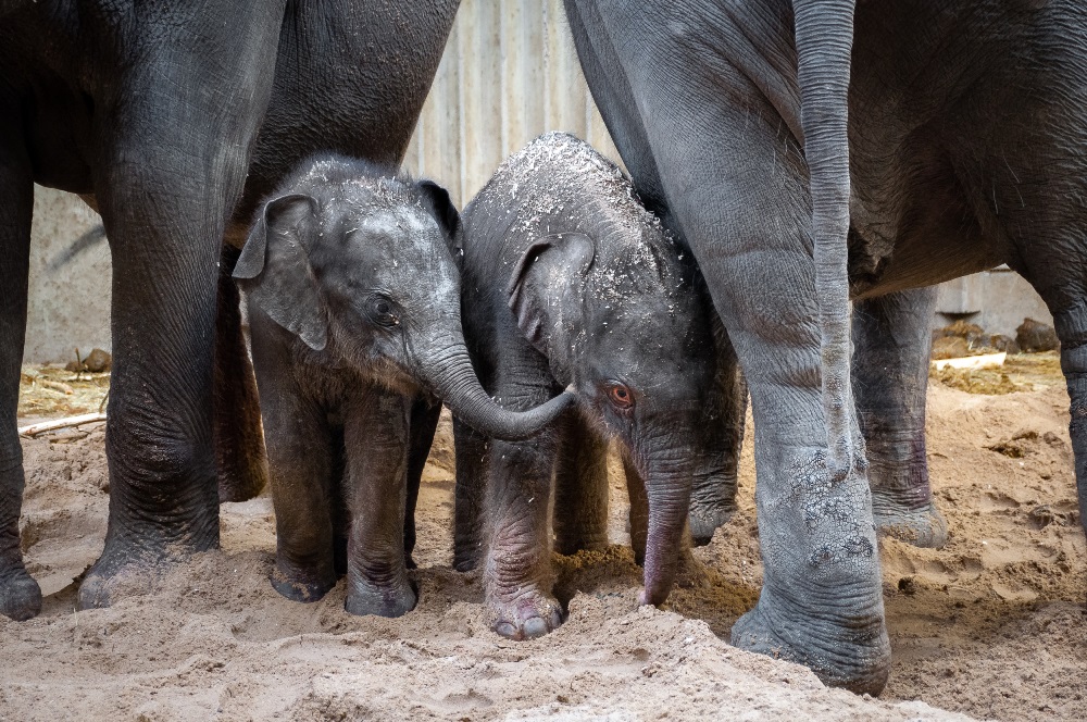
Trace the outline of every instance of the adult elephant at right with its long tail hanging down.
<path fill-rule="evenodd" d="M 876 693 L 890 649 L 860 430 L 884 435 L 887 463 L 920 464 L 922 391 L 867 394 L 916 383 L 920 351 L 860 349 L 890 372 L 858 374 L 854 413 L 847 294 L 877 332 L 921 308 L 900 296 L 914 288 L 1001 262 L 1034 284 L 1087 512 L 1087 7 L 565 5 L 623 160 L 698 259 L 750 387 L 765 576 L 733 642 Z M 896 407 L 908 422 L 877 431 Z M 923 474 L 875 491 L 883 514 L 941 534 Z"/>

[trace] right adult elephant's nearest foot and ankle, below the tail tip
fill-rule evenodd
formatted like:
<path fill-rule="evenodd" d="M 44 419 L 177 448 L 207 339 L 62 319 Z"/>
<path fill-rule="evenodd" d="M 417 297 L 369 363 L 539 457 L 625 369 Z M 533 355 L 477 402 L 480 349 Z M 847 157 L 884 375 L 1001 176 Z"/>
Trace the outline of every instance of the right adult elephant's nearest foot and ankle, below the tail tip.
<path fill-rule="evenodd" d="M 759 489 L 765 577 L 732 643 L 804 664 L 827 685 L 876 695 L 890 643 L 867 480 L 858 462 L 835 478 L 825 453 L 792 450 L 786 483 L 766 478 Z"/>

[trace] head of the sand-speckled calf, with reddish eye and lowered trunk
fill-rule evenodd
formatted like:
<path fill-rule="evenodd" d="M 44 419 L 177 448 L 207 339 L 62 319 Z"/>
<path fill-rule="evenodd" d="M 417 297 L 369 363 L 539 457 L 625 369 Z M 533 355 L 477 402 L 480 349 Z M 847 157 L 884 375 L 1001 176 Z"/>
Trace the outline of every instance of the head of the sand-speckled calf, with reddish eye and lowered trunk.
<path fill-rule="evenodd" d="M 509 306 L 583 414 L 617 438 L 649 502 L 642 599 L 675 578 L 691 485 L 712 443 L 711 309 L 697 271 L 659 226 L 551 234 L 514 266 Z"/>

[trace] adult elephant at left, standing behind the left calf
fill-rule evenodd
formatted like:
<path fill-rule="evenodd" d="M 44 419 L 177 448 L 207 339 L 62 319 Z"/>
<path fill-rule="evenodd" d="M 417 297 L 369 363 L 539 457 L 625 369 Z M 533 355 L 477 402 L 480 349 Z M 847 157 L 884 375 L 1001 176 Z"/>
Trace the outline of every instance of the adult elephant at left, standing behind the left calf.
<path fill-rule="evenodd" d="M 263 484 L 236 247 L 258 200 L 314 151 L 399 164 L 457 5 L 3 3 L 0 613 L 40 607 L 18 550 L 15 431 L 33 184 L 92 201 L 113 254 L 110 524 L 79 590 L 102 606 L 123 572 L 218 544 L 216 478 L 225 498 Z"/>

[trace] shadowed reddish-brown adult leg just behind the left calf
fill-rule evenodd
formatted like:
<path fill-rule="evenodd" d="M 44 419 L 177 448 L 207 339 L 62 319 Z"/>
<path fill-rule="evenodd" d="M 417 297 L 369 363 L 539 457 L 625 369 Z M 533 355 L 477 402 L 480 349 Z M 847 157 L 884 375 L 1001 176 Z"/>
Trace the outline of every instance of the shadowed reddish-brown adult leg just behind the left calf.
<path fill-rule="evenodd" d="M 241 298 L 230 277 L 239 252 L 232 246 L 224 246 L 218 272 L 212 408 L 221 502 L 252 499 L 267 483 L 268 464 L 257 378 L 241 329 Z"/>

